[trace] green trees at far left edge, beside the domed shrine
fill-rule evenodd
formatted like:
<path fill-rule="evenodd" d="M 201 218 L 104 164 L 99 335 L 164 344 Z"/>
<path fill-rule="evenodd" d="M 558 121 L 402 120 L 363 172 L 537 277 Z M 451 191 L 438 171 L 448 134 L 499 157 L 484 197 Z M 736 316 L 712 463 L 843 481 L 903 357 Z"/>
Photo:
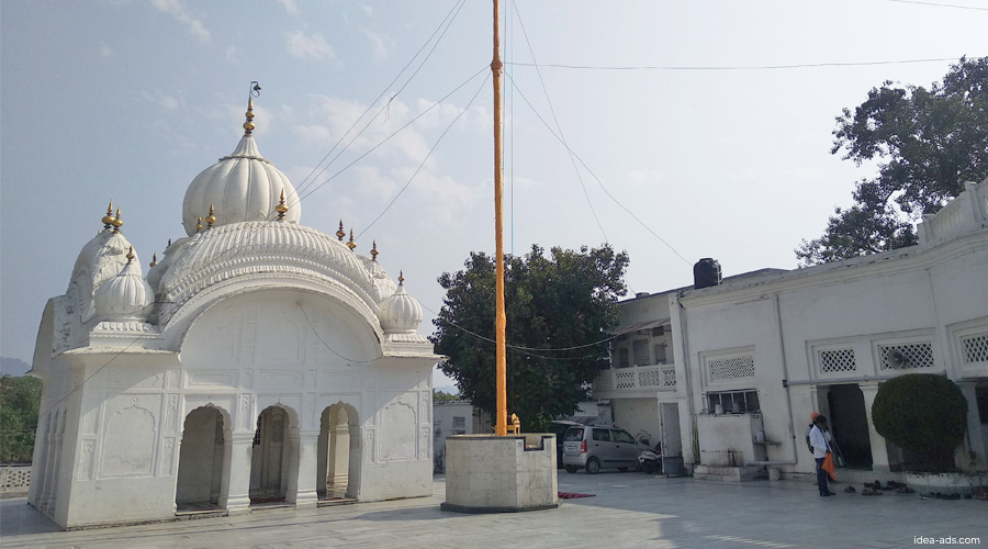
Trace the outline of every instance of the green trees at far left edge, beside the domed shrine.
<path fill-rule="evenodd" d="M 41 388 L 31 376 L 0 374 L 0 462 L 31 462 Z"/>

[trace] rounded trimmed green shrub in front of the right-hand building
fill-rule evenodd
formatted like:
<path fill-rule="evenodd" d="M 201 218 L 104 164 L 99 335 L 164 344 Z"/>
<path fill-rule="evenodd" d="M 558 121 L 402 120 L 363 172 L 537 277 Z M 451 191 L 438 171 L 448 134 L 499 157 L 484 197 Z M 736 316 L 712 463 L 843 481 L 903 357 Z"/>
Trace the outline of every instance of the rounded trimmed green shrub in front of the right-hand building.
<path fill-rule="evenodd" d="M 872 421 L 879 435 L 920 456 L 922 470 L 953 469 L 967 427 L 967 400 L 943 376 L 907 373 L 878 386 Z"/>

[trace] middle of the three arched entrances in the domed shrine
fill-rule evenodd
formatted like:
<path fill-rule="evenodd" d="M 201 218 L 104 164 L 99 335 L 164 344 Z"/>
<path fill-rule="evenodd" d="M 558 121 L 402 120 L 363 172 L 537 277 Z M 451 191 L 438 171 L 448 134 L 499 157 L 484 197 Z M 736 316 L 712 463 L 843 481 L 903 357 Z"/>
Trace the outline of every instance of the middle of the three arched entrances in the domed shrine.
<path fill-rule="evenodd" d="M 283 502 L 288 492 L 292 446 L 290 416 L 281 406 L 269 406 L 257 417 L 250 460 L 250 503 Z"/>

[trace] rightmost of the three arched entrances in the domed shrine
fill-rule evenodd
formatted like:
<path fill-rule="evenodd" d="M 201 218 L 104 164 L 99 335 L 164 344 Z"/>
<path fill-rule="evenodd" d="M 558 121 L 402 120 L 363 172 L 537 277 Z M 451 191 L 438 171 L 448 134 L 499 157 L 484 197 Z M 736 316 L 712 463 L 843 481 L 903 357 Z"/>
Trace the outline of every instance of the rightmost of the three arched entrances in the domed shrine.
<path fill-rule="evenodd" d="M 357 467 L 360 463 L 357 411 L 341 402 L 323 411 L 316 468 L 319 500 L 357 497 Z"/>

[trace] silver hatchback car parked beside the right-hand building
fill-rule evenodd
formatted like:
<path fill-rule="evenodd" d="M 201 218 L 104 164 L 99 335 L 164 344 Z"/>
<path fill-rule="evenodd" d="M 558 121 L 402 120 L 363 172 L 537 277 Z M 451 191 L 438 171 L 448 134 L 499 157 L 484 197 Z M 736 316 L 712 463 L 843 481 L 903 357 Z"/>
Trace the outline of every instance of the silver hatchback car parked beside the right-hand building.
<path fill-rule="evenodd" d="M 580 425 L 566 429 L 562 461 L 570 473 L 585 469 L 588 474 L 594 474 L 602 467 L 627 471 L 639 467 L 638 456 L 649 449 L 636 442 L 635 437 L 625 429 L 609 425 Z"/>

